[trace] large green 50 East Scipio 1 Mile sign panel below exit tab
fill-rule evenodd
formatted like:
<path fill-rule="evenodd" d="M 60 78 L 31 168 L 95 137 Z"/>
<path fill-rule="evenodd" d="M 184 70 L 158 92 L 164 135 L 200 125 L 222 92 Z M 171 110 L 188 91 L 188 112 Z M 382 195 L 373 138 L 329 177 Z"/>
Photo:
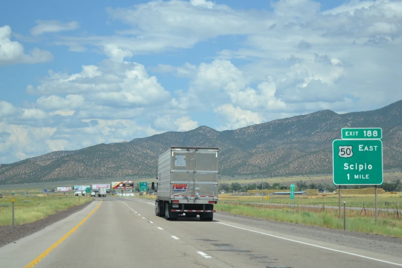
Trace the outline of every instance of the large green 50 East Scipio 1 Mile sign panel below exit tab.
<path fill-rule="evenodd" d="M 383 184 L 381 140 L 334 140 L 332 143 L 334 185 Z"/>

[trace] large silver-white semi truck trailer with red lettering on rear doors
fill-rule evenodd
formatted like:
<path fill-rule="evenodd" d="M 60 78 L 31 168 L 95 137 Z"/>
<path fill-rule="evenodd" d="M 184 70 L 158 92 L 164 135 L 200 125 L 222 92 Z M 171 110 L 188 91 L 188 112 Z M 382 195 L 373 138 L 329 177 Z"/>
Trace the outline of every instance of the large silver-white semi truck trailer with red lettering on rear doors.
<path fill-rule="evenodd" d="M 155 214 L 212 221 L 218 202 L 218 148 L 170 147 L 158 158 Z"/>

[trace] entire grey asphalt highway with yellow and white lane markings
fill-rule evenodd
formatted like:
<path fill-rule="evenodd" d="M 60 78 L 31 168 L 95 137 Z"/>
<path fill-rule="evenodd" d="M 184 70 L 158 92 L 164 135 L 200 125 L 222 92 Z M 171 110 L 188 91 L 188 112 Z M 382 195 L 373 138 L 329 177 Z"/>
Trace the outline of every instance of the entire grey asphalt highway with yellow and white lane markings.
<path fill-rule="evenodd" d="M 344 231 L 342 231 L 344 232 Z M 402 267 L 400 239 L 216 213 L 155 216 L 152 200 L 95 198 L 83 210 L 0 247 L 2 267 Z"/>

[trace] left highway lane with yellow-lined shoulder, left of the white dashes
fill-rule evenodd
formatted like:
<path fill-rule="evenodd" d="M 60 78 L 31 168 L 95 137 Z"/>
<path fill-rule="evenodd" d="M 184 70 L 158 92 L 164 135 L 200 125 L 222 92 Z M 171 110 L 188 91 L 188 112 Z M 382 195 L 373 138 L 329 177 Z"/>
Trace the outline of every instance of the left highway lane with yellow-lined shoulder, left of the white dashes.
<path fill-rule="evenodd" d="M 206 258 L 167 230 L 135 215 L 123 201 L 104 198 L 98 209 L 31 267 L 230 267 Z M 100 201 L 43 230 L 0 248 L 2 267 L 25 267 L 81 222 Z M 44 254 L 45 255 L 45 254 Z M 35 262 L 35 261 L 34 261 Z"/>

